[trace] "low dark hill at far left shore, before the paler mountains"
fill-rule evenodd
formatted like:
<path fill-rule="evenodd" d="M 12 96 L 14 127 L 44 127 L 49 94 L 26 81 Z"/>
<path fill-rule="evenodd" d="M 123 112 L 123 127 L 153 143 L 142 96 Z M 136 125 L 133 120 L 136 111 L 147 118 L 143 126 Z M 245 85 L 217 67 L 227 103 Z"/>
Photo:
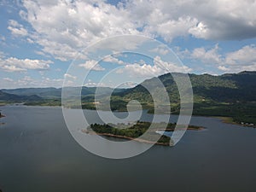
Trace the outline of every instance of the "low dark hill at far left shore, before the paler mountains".
<path fill-rule="evenodd" d="M 0 90 L 0 101 L 4 102 L 35 102 L 42 101 L 40 96 L 32 95 L 32 96 L 17 96 L 15 94 L 9 94 Z"/>

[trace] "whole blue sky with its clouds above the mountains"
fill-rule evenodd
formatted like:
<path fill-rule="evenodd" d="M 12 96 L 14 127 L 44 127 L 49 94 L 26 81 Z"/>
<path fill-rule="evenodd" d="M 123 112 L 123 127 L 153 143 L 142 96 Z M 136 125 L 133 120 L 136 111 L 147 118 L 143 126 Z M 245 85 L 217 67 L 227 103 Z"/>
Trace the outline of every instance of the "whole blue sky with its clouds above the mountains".
<path fill-rule="evenodd" d="M 2 0 L 0 89 L 256 71 L 255 10 L 255 0 Z"/>

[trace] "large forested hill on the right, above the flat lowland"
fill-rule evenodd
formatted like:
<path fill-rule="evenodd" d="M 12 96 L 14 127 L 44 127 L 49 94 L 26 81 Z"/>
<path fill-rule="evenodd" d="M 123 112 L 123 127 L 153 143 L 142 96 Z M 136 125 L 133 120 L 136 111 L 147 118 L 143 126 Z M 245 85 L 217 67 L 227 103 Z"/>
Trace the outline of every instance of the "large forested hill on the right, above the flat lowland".
<path fill-rule="evenodd" d="M 182 76 L 183 73 L 175 73 Z M 178 102 L 177 85 L 170 73 L 159 77 L 169 92 L 171 102 Z M 256 72 L 241 72 L 237 74 L 224 74 L 212 76 L 210 74 L 189 74 L 195 102 L 255 102 L 256 101 Z M 154 84 L 155 78 L 148 79 L 143 84 Z M 125 99 L 141 99 L 143 102 L 151 101 L 148 91 L 142 84 L 135 88 L 125 90 L 119 94 Z"/>

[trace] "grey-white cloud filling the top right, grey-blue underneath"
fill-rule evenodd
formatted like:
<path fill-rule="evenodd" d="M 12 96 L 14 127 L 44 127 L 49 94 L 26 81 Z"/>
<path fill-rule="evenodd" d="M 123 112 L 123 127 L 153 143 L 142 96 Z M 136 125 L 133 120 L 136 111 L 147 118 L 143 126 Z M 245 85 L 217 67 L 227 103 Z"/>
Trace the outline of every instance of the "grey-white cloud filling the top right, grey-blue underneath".
<path fill-rule="evenodd" d="M 256 37 L 255 1 L 131 0 L 125 7 L 139 24 L 166 40 L 186 34 L 218 40 Z"/>

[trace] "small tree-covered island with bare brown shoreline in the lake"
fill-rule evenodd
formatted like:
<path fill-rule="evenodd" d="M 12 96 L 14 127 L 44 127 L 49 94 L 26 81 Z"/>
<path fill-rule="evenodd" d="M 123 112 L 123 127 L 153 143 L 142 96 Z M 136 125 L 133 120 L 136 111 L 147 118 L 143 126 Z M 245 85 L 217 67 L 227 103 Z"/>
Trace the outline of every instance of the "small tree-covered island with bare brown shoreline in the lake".
<path fill-rule="evenodd" d="M 163 127 L 163 124 L 165 123 L 154 123 L 154 127 Z M 160 133 L 157 133 L 158 131 L 174 131 L 176 124 L 167 124 L 166 129 L 163 128 L 155 128 L 152 131 L 148 133 L 147 138 L 142 138 L 144 132 L 148 130 L 148 127 L 151 125 L 150 122 L 143 122 L 143 121 L 137 121 L 136 124 L 92 124 L 89 127 L 87 127 L 86 130 L 82 130 L 84 133 L 87 134 L 97 134 L 100 136 L 106 136 L 106 137 L 118 137 L 118 138 L 124 138 L 129 140 L 135 140 L 137 142 L 141 143 L 154 143 L 155 137 L 159 137 Z M 185 130 L 185 127 L 180 127 L 179 130 Z M 203 127 L 195 126 L 195 125 L 189 125 L 188 130 L 195 130 L 200 131 Z M 140 137 L 140 138 L 139 138 Z M 172 140 L 170 137 L 167 137 L 166 135 L 161 135 L 160 139 L 157 143 L 158 145 L 165 145 L 165 146 L 172 146 Z"/>

